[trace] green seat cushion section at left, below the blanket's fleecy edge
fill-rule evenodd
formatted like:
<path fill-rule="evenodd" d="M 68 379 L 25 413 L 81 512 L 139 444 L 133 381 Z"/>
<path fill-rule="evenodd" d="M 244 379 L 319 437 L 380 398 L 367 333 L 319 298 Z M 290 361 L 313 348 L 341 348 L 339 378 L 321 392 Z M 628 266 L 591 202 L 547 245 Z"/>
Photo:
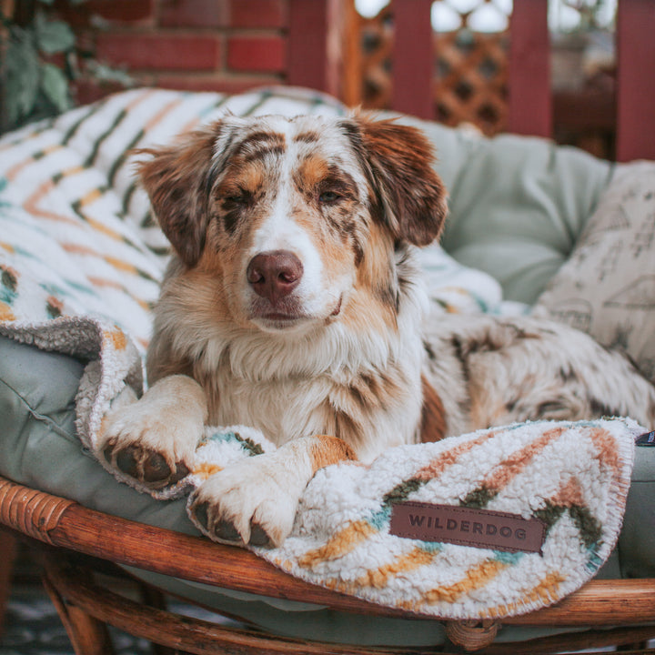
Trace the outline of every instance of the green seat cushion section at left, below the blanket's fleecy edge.
<path fill-rule="evenodd" d="M 116 482 L 76 436 L 84 364 L 0 337 L 0 475 L 125 519 L 198 534 L 184 499 L 157 503 Z"/>

